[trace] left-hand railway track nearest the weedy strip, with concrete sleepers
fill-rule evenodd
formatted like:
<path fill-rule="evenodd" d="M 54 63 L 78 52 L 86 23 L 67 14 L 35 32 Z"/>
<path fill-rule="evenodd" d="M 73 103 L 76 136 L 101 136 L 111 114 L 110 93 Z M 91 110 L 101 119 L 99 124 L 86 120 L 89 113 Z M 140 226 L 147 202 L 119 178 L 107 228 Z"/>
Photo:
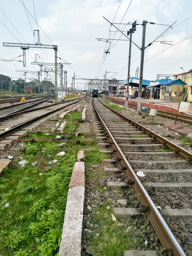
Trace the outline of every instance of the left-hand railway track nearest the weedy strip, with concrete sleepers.
<path fill-rule="evenodd" d="M 55 103 L 40 108 L 28 109 L 17 113 L 11 113 L 0 119 L 0 150 L 6 149 L 7 145 L 11 145 L 13 140 L 17 140 L 22 135 L 19 130 L 24 128 L 25 131 L 31 131 L 40 124 L 39 119 L 44 120 L 46 116 L 53 116 L 55 112 L 60 111 L 63 108 L 67 108 L 70 105 L 76 104 L 83 100 L 72 99 L 73 102 L 67 101 L 64 103 Z M 70 102 L 70 103 L 69 103 Z"/>

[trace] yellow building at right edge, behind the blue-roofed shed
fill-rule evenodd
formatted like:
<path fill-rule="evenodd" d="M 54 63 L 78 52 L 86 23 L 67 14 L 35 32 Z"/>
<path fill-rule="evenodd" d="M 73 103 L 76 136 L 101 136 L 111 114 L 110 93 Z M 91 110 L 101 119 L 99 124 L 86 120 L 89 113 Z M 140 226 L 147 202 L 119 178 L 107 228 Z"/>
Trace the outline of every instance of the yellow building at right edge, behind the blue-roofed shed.
<path fill-rule="evenodd" d="M 184 86 L 184 94 L 187 94 L 186 100 L 192 102 L 192 70 L 174 75 L 174 79 L 178 78 L 186 83 Z"/>

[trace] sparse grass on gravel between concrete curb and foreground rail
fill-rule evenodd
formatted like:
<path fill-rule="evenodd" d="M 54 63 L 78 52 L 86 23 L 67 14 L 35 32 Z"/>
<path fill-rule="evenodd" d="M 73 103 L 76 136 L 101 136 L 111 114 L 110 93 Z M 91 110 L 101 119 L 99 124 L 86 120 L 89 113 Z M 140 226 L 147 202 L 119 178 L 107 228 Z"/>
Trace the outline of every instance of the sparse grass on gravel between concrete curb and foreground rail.
<path fill-rule="evenodd" d="M 99 180 L 107 177 L 107 174 L 105 174 L 103 169 L 100 168 L 99 164 L 102 162 L 102 159 L 109 158 L 109 154 L 99 152 L 96 146 L 95 150 L 86 151 L 85 155 L 87 184 L 94 183 L 93 190 L 91 190 L 91 192 L 94 194 L 99 192 L 103 195 L 105 192 L 108 192 L 108 189 L 104 188 Z M 123 194 L 124 191 L 121 190 L 115 192 L 115 195 L 113 196 L 116 196 L 117 199 L 121 199 Z M 92 255 L 123 256 L 124 250 L 130 250 L 131 248 L 137 248 L 138 246 L 145 246 L 143 237 L 141 237 L 140 233 L 130 227 L 130 220 L 121 220 L 123 227 L 117 226 L 119 223 L 118 217 L 116 218 L 117 221 L 112 221 L 111 214 L 114 212 L 112 207 L 113 202 L 110 195 L 102 199 L 100 202 L 103 203 L 101 206 L 96 205 L 96 207 L 93 207 L 92 220 L 90 222 L 90 224 L 93 225 L 91 228 L 93 236 L 89 236 L 86 233 L 86 246 L 90 249 Z M 131 204 L 131 201 L 128 200 L 128 204 Z M 86 224 L 87 219 L 84 218 L 83 236 L 87 229 Z"/>

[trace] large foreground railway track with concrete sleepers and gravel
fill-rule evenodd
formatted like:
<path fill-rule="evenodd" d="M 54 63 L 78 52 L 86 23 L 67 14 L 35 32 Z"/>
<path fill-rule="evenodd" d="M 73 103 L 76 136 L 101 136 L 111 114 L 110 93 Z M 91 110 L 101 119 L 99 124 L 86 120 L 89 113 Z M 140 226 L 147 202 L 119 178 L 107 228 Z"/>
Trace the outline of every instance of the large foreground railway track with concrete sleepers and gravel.
<path fill-rule="evenodd" d="M 116 159 L 110 162 L 115 164 L 115 168 L 105 168 L 105 171 L 109 175 L 120 173 L 117 177 L 121 177 L 121 181 L 107 181 L 107 186 L 113 190 L 133 188 L 138 201 L 139 208 L 116 207 L 115 214 L 119 218 L 147 214 L 162 244 L 162 255 L 184 256 L 184 251 L 191 255 L 192 153 L 106 106 L 99 99 L 92 102 L 96 111 L 93 125 L 97 139 L 103 141 L 98 145 L 102 148 L 112 146 L 116 153 Z M 144 177 L 138 176 L 140 171 Z M 129 254 L 124 252 L 124 255 Z"/>

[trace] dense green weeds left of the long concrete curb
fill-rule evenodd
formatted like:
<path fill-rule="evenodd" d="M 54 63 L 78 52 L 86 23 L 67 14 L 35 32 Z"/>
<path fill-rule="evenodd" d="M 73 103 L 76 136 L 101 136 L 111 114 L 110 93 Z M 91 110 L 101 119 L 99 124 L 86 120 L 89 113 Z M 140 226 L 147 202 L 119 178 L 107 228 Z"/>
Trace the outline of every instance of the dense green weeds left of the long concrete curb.
<path fill-rule="evenodd" d="M 27 143 L 26 167 L 12 166 L 0 178 L 0 252 L 55 256 L 61 240 L 68 184 L 77 152 L 56 156 L 56 143 Z M 37 150 L 41 151 L 37 151 Z M 47 154 L 52 155 L 48 157 Z M 58 162 L 49 166 L 49 161 Z M 32 163 L 38 163 L 32 167 Z M 42 176 L 39 176 L 42 173 Z M 9 202 L 9 208 L 4 205 Z"/>

